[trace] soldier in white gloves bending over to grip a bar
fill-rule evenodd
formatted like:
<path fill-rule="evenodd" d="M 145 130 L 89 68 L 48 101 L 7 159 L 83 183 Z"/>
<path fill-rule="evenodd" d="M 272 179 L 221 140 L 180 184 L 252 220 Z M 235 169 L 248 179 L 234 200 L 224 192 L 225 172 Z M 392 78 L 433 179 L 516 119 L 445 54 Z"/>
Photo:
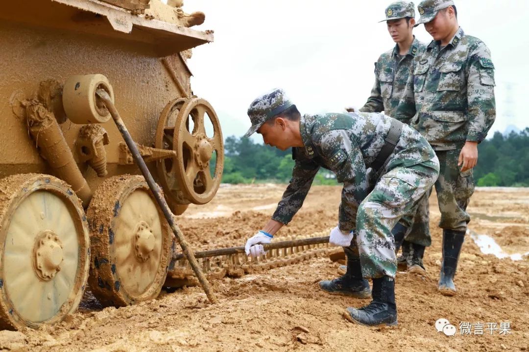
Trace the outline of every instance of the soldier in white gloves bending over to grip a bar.
<path fill-rule="evenodd" d="M 373 281 L 371 303 L 348 308 L 344 315 L 363 325 L 396 325 L 397 260 L 391 229 L 435 182 L 439 163 L 433 149 L 413 128 L 382 113 L 301 116 L 281 89 L 254 100 L 248 116 L 252 126 L 244 136 L 258 132 L 267 145 L 293 148 L 295 166 L 276 211 L 248 239 L 246 253 L 265 254 L 262 243 L 270 243 L 292 220 L 318 169 L 327 168 L 343 183 L 338 226 L 331 230 L 330 242 L 350 249 L 347 289 L 353 297 L 369 297 L 366 279 Z M 374 188 L 368 186 L 368 167 L 377 175 Z"/>

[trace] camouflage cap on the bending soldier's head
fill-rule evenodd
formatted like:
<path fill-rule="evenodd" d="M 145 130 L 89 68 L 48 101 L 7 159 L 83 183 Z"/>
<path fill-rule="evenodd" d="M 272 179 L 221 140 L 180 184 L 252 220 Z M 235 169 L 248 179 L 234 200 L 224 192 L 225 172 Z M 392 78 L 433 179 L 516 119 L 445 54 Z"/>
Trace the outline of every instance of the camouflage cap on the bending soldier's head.
<path fill-rule="evenodd" d="M 263 123 L 291 106 L 293 103 L 290 102 L 285 91 L 280 88 L 272 89 L 270 92 L 257 97 L 248 108 L 248 116 L 252 126 L 244 134 L 244 137 L 250 137 Z"/>

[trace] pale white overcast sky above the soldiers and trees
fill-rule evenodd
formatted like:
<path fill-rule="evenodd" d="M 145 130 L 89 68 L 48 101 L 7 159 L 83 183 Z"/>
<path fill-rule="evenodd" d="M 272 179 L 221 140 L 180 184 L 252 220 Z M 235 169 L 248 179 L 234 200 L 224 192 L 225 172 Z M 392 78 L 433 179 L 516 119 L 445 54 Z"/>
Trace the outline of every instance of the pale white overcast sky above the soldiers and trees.
<path fill-rule="evenodd" d="M 360 107 L 375 79 L 373 62 L 395 45 L 386 24 L 378 23 L 389 3 L 185 0 L 186 12 L 206 13 L 205 23 L 196 28 L 215 31 L 213 43 L 194 49 L 191 86 L 212 103 L 224 137 L 241 136 L 250 126 L 250 102 L 274 87 L 284 88 L 302 113 Z M 459 24 L 488 45 L 496 66 L 497 118 L 492 131 L 529 126 L 529 109 L 523 105 L 529 100 L 529 1 L 455 4 Z M 431 41 L 423 25 L 414 34 Z"/>

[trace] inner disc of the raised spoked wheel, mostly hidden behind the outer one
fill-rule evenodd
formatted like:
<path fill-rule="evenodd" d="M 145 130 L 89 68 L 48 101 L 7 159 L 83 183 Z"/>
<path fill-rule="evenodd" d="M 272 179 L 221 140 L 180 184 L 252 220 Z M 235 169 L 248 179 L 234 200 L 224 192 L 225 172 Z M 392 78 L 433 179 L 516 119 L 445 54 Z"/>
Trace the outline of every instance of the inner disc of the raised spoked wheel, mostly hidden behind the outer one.
<path fill-rule="evenodd" d="M 155 148 L 172 150 L 175 121 L 186 101 L 185 98 L 174 99 L 163 109 L 156 129 Z M 160 185 L 171 211 L 176 215 L 181 215 L 189 206 L 189 201 L 184 198 L 184 193 L 175 176 L 173 165 L 177 163 L 178 159 L 163 159 L 157 161 L 156 167 Z"/>

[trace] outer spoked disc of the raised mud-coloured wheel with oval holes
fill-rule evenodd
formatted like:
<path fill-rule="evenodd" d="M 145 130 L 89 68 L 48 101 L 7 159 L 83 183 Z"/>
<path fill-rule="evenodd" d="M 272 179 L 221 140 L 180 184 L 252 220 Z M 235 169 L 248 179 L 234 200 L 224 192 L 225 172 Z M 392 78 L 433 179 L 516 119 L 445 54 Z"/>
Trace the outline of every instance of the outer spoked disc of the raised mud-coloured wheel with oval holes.
<path fill-rule="evenodd" d="M 213 125 L 211 138 L 206 135 L 205 118 Z M 189 99 L 178 112 L 174 136 L 173 149 L 180 162 L 173 168 L 184 197 L 194 204 L 206 204 L 217 193 L 224 168 L 224 140 L 217 114 L 206 100 Z M 210 161 L 214 151 L 216 161 L 212 173 Z"/>

